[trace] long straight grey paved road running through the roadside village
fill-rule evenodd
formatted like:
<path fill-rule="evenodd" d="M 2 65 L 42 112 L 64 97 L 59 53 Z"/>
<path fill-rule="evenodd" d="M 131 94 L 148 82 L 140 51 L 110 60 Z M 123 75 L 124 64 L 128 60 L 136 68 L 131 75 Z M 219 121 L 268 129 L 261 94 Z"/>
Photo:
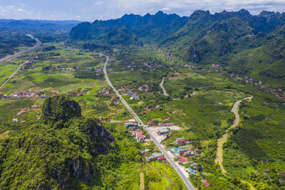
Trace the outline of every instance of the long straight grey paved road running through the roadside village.
<path fill-rule="evenodd" d="M 110 82 L 108 75 L 107 75 L 107 64 L 109 61 L 109 57 L 104 55 L 104 54 L 100 54 L 102 56 L 105 56 L 107 58 L 105 65 L 104 65 L 104 75 L 105 78 L 108 82 L 108 84 L 110 85 L 110 88 L 112 88 L 115 92 L 115 94 L 120 97 L 120 101 L 123 102 L 123 104 L 125 105 L 125 107 L 127 107 L 127 109 L 130 111 L 130 113 L 133 115 L 133 117 L 135 117 L 135 120 L 138 121 L 138 123 L 140 125 L 142 125 L 143 129 L 147 131 L 148 134 L 150 134 L 150 138 L 152 139 L 153 142 L 155 142 L 155 144 L 157 145 L 157 147 L 160 149 L 160 151 L 165 155 L 165 158 L 170 162 L 170 164 L 172 164 L 172 166 L 175 168 L 175 170 L 177 171 L 177 173 L 180 175 L 180 177 L 182 178 L 182 180 L 185 182 L 185 185 L 187 186 L 188 189 L 191 190 L 195 190 L 194 186 L 192 186 L 192 184 L 190 183 L 190 181 L 187 179 L 187 176 L 185 176 L 185 174 L 183 174 L 183 172 L 180 170 L 179 167 L 177 167 L 177 165 L 175 164 L 174 160 L 169 156 L 169 154 L 167 154 L 167 152 L 165 151 L 165 149 L 162 147 L 162 145 L 160 144 L 160 142 L 157 142 L 157 140 L 152 136 L 152 134 L 147 130 L 147 127 L 145 127 L 145 125 L 143 124 L 143 122 L 140 120 L 140 118 L 135 114 L 135 112 L 133 112 L 132 108 L 130 108 L 130 106 L 128 105 L 127 102 L 125 102 L 125 100 L 123 99 L 123 97 L 120 96 L 120 94 L 118 93 L 117 90 L 115 90 L 114 86 L 112 85 L 112 83 Z"/>

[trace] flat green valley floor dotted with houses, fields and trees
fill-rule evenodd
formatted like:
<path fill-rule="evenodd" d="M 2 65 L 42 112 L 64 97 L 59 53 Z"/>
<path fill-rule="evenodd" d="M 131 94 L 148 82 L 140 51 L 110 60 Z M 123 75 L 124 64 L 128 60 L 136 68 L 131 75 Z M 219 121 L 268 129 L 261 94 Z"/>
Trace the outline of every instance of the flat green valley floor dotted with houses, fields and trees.
<path fill-rule="evenodd" d="M 118 154 L 125 155 L 120 164 L 105 167 L 103 188 L 186 189 L 170 164 L 147 162 L 160 152 L 155 144 L 137 142 L 125 128 L 132 116 L 105 81 L 105 57 L 61 43 L 43 46 L 51 45 L 55 51 L 34 54 L 31 64 L 1 89 L 0 139 L 21 135 L 40 120 L 46 97 L 65 94 L 79 102 L 84 117 L 103 122 L 115 136 Z M 204 180 L 210 184 L 207 189 L 249 189 L 245 181 L 256 189 L 284 188 L 279 182 L 285 171 L 283 100 L 229 77 L 227 68 L 177 65 L 155 48 L 116 47 L 105 54 L 111 83 L 196 188 L 204 187 Z M 1 83 L 27 58 L 1 64 Z M 157 134 L 162 128 L 170 133 Z M 182 144 L 175 144 L 178 140 Z M 115 154 L 103 159 L 108 157 Z"/>

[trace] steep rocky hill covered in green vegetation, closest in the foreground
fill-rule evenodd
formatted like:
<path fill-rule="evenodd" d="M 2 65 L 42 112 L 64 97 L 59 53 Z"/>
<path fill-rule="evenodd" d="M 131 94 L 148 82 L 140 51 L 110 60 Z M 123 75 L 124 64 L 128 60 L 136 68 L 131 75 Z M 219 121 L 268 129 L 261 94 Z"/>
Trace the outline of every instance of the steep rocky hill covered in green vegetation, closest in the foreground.
<path fill-rule="evenodd" d="M 68 97 L 46 100 L 41 122 L 0 141 L 0 189 L 76 189 L 100 186 L 95 162 L 115 138 L 95 119 L 81 116 Z"/>

